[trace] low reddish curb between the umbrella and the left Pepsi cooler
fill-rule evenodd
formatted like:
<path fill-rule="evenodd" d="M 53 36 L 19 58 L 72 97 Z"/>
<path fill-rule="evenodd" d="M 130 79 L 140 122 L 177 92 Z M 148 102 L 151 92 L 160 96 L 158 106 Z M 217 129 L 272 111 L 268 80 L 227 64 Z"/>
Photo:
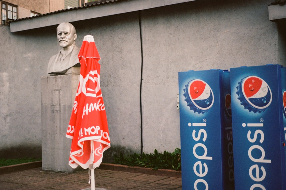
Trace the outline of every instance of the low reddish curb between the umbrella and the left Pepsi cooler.
<path fill-rule="evenodd" d="M 101 163 L 98 169 L 182 178 L 181 171 L 168 170 L 168 169 L 154 170 L 152 168 L 129 167 L 129 166 L 125 166 L 125 165 L 109 164 L 109 163 Z"/>

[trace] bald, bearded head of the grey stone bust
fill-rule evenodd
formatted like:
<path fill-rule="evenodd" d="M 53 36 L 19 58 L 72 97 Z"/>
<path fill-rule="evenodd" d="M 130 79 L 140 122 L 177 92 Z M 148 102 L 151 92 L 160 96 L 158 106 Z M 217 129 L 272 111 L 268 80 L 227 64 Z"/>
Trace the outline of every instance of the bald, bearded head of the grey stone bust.
<path fill-rule="evenodd" d="M 57 41 L 59 42 L 59 46 L 62 48 L 67 48 L 71 46 L 76 40 L 76 34 L 66 23 L 62 23 L 57 27 Z"/>

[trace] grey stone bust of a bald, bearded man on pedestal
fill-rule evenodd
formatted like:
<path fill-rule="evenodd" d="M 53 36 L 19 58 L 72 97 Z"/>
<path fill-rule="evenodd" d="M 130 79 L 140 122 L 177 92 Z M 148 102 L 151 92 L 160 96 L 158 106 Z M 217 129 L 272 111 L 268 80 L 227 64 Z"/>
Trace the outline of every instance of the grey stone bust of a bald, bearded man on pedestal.
<path fill-rule="evenodd" d="M 49 60 L 47 74 L 63 75 L 71 67 L 80 67 L 76 45 L 76 29 L 71 23 L 63 22 L 57 26 L 57 41 L 61 50 Z"/>

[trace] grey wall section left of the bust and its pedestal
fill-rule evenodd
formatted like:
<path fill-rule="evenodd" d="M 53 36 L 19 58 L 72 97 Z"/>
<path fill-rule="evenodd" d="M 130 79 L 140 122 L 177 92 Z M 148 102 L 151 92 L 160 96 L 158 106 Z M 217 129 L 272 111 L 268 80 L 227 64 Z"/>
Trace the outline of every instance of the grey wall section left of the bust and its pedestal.
<path fill-rule="evenodd" d="M 0 33 L 0 156 L 41 157 L 40 76 L 58 51 L 55 32 Z"/>

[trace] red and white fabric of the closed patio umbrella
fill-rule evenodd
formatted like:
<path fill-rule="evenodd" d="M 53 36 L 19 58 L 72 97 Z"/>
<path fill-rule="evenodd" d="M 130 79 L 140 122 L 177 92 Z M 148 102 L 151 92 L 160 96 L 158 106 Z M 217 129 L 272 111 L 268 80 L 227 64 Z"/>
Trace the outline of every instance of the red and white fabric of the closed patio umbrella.
<path fill-rule="evenodd" d="M 110 138 L 100 89 L 100 56 L 93 36 L 84 37 L 78 58 L 80 82 L 66 133 L 72 139 L 69 165 L 94 169 L 110 147 Z"/>

